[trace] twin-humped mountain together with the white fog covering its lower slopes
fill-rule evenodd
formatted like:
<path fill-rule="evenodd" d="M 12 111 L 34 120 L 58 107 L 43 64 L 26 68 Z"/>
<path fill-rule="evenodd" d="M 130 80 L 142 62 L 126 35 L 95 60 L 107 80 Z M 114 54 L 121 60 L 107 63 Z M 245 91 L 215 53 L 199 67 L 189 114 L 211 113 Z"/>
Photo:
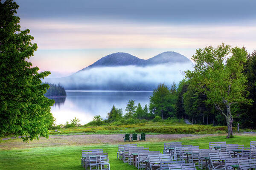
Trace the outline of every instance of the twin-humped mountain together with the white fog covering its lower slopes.
<path fill-rule="evenodd" d="M 183 79 L 192 62 L 176 52 L 163 52 L 150 59 L 128 53 L 113 53 L 86 68 L 62 78 L 45 78 L 66 90 L 152 91 L 159 83 L 171 85 Z"/>

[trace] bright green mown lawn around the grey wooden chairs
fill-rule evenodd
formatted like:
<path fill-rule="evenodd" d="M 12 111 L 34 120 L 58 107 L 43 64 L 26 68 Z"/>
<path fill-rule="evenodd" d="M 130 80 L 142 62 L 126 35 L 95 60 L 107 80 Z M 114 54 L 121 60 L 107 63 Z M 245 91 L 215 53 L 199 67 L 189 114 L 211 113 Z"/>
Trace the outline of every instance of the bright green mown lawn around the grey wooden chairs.
<path fill-rule="evenodd" d="M 225 136 L 209 136 L 203 138 L 183 138 L 183 144 L 193 144 L 200 149 L 208 148 L 209 142 L 227 141 L 227 143 L 244 144 L 250 146 L 250 141 L 256 140 L 255 135 L 239 135 L 231 139 Z M 170 141 L 166 141 L 170 142 Z M 135 142 L 134 142 L 135 143 Z M 137 142 L 139 146 L 149 147 L 151 151 L 159 150 L 163 152 L 164 142 Z M 1 145 L 1 143 L 0 143 Z M 0 147 L 1 148 L 1 147 Z M 136 170 L 137 168 L 124 164 L 116 158 L 117 145 L 95 145 L 95 146 L 59 146 L 59 147 L 32 147 L 25 149 L 0 150 L 0 169 L 1 170 L 82 170 L 80 166 L 82 149 L 102 148 L 109 153 L 111 170 Z"/>

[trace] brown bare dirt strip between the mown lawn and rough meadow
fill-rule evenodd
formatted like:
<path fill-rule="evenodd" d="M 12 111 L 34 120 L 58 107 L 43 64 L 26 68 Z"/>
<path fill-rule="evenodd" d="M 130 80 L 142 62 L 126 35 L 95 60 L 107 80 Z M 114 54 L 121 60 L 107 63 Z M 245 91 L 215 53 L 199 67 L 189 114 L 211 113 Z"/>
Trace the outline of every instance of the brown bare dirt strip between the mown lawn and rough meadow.
<path fill-rule="evenodd" d="M 0 149 L 65 146 L 65 145 L 92 145 L 92 144 L 123 144 L 123 134 L 110 135 L 65 135 L 49 136 L 48 139 L 41 137 L 39 140 L 22 142 L 21 139 L 10 139 L 0 144 Z M 185 137 L 196 137 L 192 134 L 170 134 L 170 135 L 146 135 L 146 142 L 160 142 Z M 138 137 L 139 139 L 139 137 Z"/>

